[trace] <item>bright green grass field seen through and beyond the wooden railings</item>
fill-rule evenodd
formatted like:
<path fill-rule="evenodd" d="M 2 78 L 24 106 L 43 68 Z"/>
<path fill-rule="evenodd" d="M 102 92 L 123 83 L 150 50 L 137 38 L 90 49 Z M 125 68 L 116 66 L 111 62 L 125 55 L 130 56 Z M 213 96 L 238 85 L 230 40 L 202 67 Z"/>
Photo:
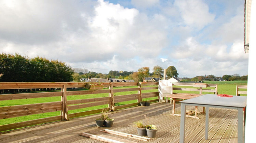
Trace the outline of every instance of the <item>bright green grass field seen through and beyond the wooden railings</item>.
<path fill-rule="evenodd" d="M 236 85 L 237 84 L 247 84 L 247 81 L 207 81 L 204 83 L 218 84 L 218 89 L 217 89 L 218 94 L 236 95 Z M 134 88 L 134 87 L 137 87 L 137 86 L 128 86 L 125 88 Z M 124 87 L 118 87 L 118 88 L 124 88 Z M 118 89 L 118 88 L 115 88 L 115 89 Z M 157 89 L 145 90 L 145 91 L 142 91 L 142 93 L 156 92 L 156 91 L 157 91 Z M 138 93 L 138 91 L 119 92 L 119 93 L 114 93 L 114 96 L 126 95 L 126 94 L 136 94 L 136 93 Z M 203 94 L 207 94 L 207 93 L 203 93 Z M 212 93 L 210 93 L 210 94 L 212 94 Z M 108 96 L 108 94 L 106 94 L 106 93 L 105 94 L 91 94 L 91 95 L 75 95 L 75 96 L 68 96 L 67 99 L 68 100 L 76 100 L 76 99 L 97 98 L 97 97 L 106 97 L 106 96 Z M 242 96 L 246 96 L 246 95 L 242 95 Z M 143 100 L 151 100 L 151 99 L 156 99 L 156 98 L 157 97 L 152 97 L 152 98 L 146 98 Z M 53 101 L 60 101 L 60 99 L 61 99 L 61 97 L 46 97 L 46 98 L 0 101 L 0 107 L 43 103 L 43 102 L 53 102 Z M 130 103 L 134 103 L 134 102 L 137 102 L 137 100 L 116 103 L 115 106 L 130 104 Z M 84 108 L 84 109 L 77 109 L 77 110 L 69 110 L 69 113 L 101 109 L 101 108 L 105 108 L 105 107 L 107 107 L 107 105 L 101 105 L 101 106 L 96 106 L 96 107 L 91 107 L 91 108 L 86 108 L 86 109 Z M 0 125 L 29 121 L 29 120 L 34 120 L 34 119 L 38 119 L 38 118 L 58 116 L 58 115 L 60 115 L 60 111 L 43 113 L 43 114 L 35 114 L 35 115 L 27 115 L 27 116 L 22 116 L 22 117 L 7 118 L 7 119 L 0 120 Z"/>

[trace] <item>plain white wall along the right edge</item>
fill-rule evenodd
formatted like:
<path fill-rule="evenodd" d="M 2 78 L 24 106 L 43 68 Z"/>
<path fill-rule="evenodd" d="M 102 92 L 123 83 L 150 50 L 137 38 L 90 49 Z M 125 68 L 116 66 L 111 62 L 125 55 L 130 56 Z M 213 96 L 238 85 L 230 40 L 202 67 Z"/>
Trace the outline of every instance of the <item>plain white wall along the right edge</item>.
<path fill-rule="evenodd" d="M 247 89 L 247 112 L 245 124 L 245 143 L 256 142 L 256 1 L 252 0 L 251 9 L 250 47 L 248 63 L 248 89 Z"/>

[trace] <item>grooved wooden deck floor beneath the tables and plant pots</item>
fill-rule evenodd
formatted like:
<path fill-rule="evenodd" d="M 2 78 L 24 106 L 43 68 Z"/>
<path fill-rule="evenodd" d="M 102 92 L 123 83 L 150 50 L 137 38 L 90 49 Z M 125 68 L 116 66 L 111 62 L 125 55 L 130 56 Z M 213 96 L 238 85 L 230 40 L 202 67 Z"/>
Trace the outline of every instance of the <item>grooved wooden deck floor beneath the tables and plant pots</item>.
<path fill-rule="evenodd" d="M 187 107 L 194 110 L 195 107 Z M 202 111 L 202 107 L 198 107 Z M 180 104 L 176 104 L 175 113 L 180 112 Z M 114 112 L 111 118 L 114 118 L 113 127 L 110 130 L 136 134 L 137 129 L 133 122 L 143 120 L 146 123 L 144 115 L 152 118 L 152 123 L 157 126 L 158 131 L 155 138 L 147 141 L 150 143 L 177 143 L 180 138 L 180 117 L 171 116 L 172 104 L 152 103 L 149 107 L 139 106 L 122 109 Z M 0 133 L 1 143 L 40 143 L 40 142 L 83 142 L 98 143 L 102 141 L 79 136 L 82 132 L 94 134 L 104 134 L 111 137 L 118 137 L 139 143 L 135 139 L 116 136 L 103 133 L 100 130 L 105 127 L 97 128 L 95 118 L 100 115 L 91 115 L 86 117 L 73 118 L 70 121 L 58 121 L 16 129 Z M 205 143 L 205 142 L 237 142 L 237 110 L 210 108 L 209 116 L 209 140 L 204 139 L 205 115 L 198 114 L 199 119 L 186 117 L 185 142 Z"/>

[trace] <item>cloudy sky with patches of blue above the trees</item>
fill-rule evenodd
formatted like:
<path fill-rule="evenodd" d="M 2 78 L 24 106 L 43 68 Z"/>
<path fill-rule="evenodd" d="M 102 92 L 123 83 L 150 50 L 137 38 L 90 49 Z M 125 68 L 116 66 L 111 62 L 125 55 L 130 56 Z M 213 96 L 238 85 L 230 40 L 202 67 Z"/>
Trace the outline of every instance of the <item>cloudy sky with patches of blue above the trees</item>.
<path fill-rule="evenodd" d="M 0 52 L 108 74 L 248 74 L 243 0 L 1 0 Z"/>

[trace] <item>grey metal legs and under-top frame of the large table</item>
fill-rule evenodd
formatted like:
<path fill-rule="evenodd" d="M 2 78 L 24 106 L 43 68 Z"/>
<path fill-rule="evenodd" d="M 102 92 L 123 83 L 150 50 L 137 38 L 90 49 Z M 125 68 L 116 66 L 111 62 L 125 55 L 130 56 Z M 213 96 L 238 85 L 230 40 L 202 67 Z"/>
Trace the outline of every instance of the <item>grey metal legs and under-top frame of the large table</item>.
<path fill-rule="evenodd" d="M 195 97 L 195 98 L 198 98 L 198 97 Z M 195 99 L 195 98 L 193 98 L 193 99 Z M 227 98 L 227 97 L 222 97 L 222 98 Z M 186 106 L 203 106 L 203 107 L 205 107 L 205 140 L 208 140 L 209 107 L 213 107 L 213 108 L 227 108 L 227 109 L 236 109 L 236 110 L 238 110 L 238 142 L 239 143 L 243 143 L 244 142 L 246 106 L 245 106 L 244 117 L 243 117 L 243 108 L 244 107 L 231 107 L 231 106 L 194 104 L 194 103 L 182 103 L 181 102 L 180 143 L 184 143 L 184 141 L 185 141 Z M 243 120 L 243 118 L 244 118 L 244 120 Z"/>

